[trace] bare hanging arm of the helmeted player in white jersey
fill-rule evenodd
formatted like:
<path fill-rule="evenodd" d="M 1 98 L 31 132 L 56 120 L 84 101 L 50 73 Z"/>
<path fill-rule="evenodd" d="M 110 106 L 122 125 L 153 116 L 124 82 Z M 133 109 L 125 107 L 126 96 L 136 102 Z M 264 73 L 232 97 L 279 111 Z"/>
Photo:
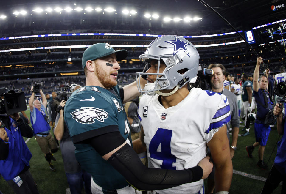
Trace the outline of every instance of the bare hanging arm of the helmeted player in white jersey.
<path fill-rule="evenodd" d="M 232 179 L 232 162 L 226 125 L 221 127 L 207 143 L 215 164 L 215 191 L 229 191 Z"/>

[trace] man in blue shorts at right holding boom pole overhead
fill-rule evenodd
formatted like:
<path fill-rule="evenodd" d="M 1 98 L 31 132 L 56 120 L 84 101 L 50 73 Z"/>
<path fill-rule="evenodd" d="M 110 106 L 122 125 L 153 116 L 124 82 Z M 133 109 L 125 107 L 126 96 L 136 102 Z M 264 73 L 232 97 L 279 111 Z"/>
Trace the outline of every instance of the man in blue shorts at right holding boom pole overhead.
<path fill-rule="evenodd" d="M 257 118 L 254 122 L 256 142 L 251 146 L 246 146 L 246 151 L 248 157 L 252 158 L 252 152 L 254 148 L 259 146 L 259 161 L 257 162 L 257 166 L 259 168 L 266 169 L 267 165 L 263 162 L 263 154 L 270 133 L 270 126 L 265 121 L 267 121 L 267 115 L 271 113 L 273 109 L 273 103 L 271 102 L 271 96 L 267 91 L 269 70 L 267 70 L 266 75 L 263 74 L 259 78 L 259 67 L 262 62 L 262 57 L 258 57 L 256 67 L 253 73 L 253 94 L 257 103 Z"/>

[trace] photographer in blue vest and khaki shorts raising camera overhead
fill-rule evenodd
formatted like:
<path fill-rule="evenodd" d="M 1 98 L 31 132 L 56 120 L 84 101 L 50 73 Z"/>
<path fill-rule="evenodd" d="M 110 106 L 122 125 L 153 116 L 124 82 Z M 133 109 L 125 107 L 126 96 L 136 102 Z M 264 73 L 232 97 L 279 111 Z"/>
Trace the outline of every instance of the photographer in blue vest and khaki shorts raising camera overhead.
<path fill-rule="evenodd" d="M 39 100 L 34 100 L 35 92 L 33 91 L 33 88 L 34 86 L 31 88 L 32 95 L 29 101 L 32 127 L 34 129 L 34 134 L 38 145 L 40 146 L 43 154 L 45 154 L 45 158 L 49 163 L 49 168 L 52 171 L 55 171 L 51 160 L 55 161 L 52 153 L 57 152 L 57 144 L 50 133 L 51 127 L 49 125 L 49 119 L 45 113 L 47 99 L 43 91 L 40 90 L 43 103 L 41 104 Z"/>

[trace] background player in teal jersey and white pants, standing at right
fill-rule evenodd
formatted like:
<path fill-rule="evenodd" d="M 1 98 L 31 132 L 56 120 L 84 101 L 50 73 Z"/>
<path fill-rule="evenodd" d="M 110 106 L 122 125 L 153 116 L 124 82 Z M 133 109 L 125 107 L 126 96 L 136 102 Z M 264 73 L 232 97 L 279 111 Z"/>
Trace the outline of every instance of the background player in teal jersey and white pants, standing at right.
<path fill-rule="evenodd" d="M 251 101 L 252 101 L 252 89 L 253 84 L 251 81 L 248 80 L 248 75 L 245 73 L 241 76 L 241 79 L 243 81 L 243 85 L 241 87 L 241 98 L 242 98 L 242 107 L 241 107 L 241 118 L 244 122 L 245 127 L 242 131 L 245 130 L 245 133 L 243 133 L 241 136 L 249 135 L 249 126 L 250 121 L 247 118 L 248 113 L 251 112 Z"/>

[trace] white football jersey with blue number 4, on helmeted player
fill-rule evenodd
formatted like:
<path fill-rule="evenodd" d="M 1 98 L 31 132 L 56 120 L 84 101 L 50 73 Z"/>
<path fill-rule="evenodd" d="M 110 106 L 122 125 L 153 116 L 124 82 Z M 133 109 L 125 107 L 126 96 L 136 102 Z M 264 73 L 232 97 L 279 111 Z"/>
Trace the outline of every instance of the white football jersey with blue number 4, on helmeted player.
<path fill-rule="evenodd" d="M 165 109 L 158 96 L 144 94 L 138 109 L 149 167 L 182 170 L 197 166 L 206 157 L 206 143 L 230 121 L 227 97 L 192 88 L 184 100 Z M 197 193 L 202 185 L 203 179 L 157 192 Z"/>

